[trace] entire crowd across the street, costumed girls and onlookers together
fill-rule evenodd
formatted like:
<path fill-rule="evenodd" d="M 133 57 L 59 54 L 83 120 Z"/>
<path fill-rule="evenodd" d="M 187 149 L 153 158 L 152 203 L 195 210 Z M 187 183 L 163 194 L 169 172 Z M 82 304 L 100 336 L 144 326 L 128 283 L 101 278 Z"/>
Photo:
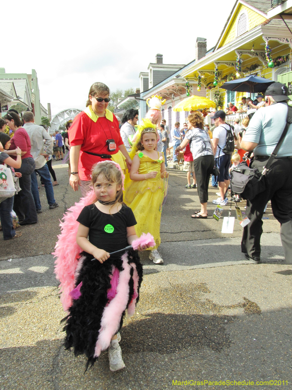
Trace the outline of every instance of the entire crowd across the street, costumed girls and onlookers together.
<path fill-rule="evenodd" d="M 80 187 L 83 197 L 64 215 L 55 249 L 55 271 L 62 286 L 61 302 L 68 311 L 65 347 L 73 347 L 75 354 L 85 353 L 87 367 L 108 348 L 110 370 L 125 367 L 119 331 L 125 311 L 133 314 L 139 299 L 143 271 L 137 251 L 147 250 L 153 263 L 164 263 L 158 248 L 168 190 L 167 158 L 168 162 L 172 158 L 179 163 L 178 156 L 183 153 L 188 172 L 186 188 L 197 188 L 201 203 L 201 209 L 191 217 L 207 218 L 214 167 L 219 193 L 213 204 L 225 206 L 231 161 L 236 166 L 242 160 L 241 150 L 253 152 L 250 166 L 263 169 L 286 125 L 288 100 L 287 87 L 274 83 L 266 91 L 266 108 L 259 106 L 250 123 L 248 118 L 241 127 L 236 120 L 231 127 L 225 121 L 228 113 L 213 111 L 212 131 L 205 125 L 201 111 L 190 112 L 181 129 L 179 122 L 169 129 L 161 117 L 164 102 L 155 96 L 147 103 L 150 109 L 138 127 L 138 111 L 131 109 L 120 128 L 107 108 L 109 88 L 96 82 L 90 88 L 87 108 L 72 124 L 68 123 L 64 139 L 56 132 L 55 150 L 53 139 L 34 124 L 32 113 L 23 115 L 24 124 L 18 114 L 6 114 L 5 123 L 13 137 L 0 133 L 0 162 L 15 172 L 21 191 L 14 201 L 9 198 L 0 203 L 4 239 L 16 236 L 10 225 L 12 207 L 20 225 L 37 222 L 41 211 L 37 174 L 44 182 L 49 208 L 58 206 L 47 159 L 53 152 L 56 158 L 64 158 L 60 150 L 64 140 L 68 147 L 69 182 L 74 191 Z M 229 110 L 235 111 L 230 105 Z M 233 155 L 227 148 L 230 130 L 236 141 Z M 272 200 L 273 213 L 281 223 L 285 258 L 292 264 L 292 125 L 286 137 L 273 169 L 267 173 L 266 191 L 247 201 L 250 223 L 244 227 L 241 250 L 252 263 L 260 262 L 261 218 Z"/>

